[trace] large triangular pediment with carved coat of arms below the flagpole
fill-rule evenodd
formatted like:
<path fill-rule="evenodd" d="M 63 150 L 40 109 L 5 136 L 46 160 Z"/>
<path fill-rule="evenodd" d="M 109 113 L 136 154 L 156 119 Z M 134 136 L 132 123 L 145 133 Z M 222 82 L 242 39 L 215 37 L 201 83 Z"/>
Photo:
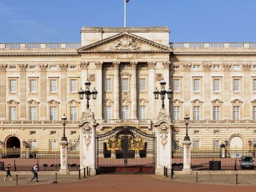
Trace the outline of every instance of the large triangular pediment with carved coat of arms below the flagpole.
<path fill-rule="evenodd" d="M 109 38 L 100 40 L 88 46 L 84 46 L 77 50 L 78 53 L 83 52 L 171 52 L 170 47 L 161 45 L 151 40 L 122 32 Z"/>

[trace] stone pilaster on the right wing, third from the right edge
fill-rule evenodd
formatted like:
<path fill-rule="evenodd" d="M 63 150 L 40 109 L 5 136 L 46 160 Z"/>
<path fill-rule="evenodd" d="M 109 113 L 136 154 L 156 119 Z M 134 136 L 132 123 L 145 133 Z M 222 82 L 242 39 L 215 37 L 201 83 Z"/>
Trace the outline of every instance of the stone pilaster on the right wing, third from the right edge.
<path fill-rule="evenodd" d="M 211 102 L 210 102 L 210 69 L 212 64 L 203 64 L 204 68 L 204 119 L 210 119 L 210 109 Z"/>

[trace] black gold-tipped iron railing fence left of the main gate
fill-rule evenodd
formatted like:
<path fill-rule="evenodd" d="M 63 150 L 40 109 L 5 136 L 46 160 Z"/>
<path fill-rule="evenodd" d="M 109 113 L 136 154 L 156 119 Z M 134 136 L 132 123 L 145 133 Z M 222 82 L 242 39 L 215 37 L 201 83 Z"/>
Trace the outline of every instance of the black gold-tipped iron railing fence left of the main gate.
<path fill-rule="evenodd" d="M 69 150 L 68 169 L 80 168 L 80 150 Z M 0 171 L 11 164 L 12 171 L 30 171 L 35 164 L 39 165 L 40 171 L 54 171 L 60 169 L 60 148 L 1 148 Z"/>

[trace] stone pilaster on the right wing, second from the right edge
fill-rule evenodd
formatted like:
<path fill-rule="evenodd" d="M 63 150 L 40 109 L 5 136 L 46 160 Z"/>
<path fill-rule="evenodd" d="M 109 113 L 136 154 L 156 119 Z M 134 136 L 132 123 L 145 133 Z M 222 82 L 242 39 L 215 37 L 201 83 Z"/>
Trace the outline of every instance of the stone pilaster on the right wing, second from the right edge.
<path fill-rule="evenodd" d="M 224 109 L 222 109 L 222 118 L 224 120 L 230 120 L 230 118 L 232 117 L 232 113 L 230 114 L 230 94 L 232 94 L 233 90 L 230 90 L 230 79 L 232 79 L 232 77 L 230 77 L 230 68 L 231 68 L 231 64 L 223 64 L 224 67 L 224 90 L 222 90 L 223 92 L 223 97 L 224 97 Z M 233 84 L 231 82 L 231 84 Z M 233 88 L 232 88 L 233 89 Z"/>

